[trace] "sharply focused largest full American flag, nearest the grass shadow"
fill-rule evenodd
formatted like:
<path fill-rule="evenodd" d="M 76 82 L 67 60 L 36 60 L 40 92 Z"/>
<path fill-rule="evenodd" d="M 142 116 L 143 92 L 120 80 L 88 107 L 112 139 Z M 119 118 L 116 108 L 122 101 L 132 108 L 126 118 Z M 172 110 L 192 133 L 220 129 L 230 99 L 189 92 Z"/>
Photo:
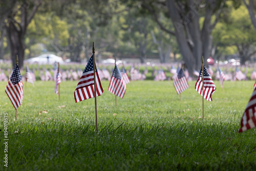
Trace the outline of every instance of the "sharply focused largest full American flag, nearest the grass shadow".
<path fill-rule="evenodd" d="M 100 96 L 103 93 L 101 87 L 97 67 L 95 65 L 95 82 L 96 82 L 96 96 Z M 75 101 L 79 102 L 94 97 L 94 74 L 93 74 L 93 56 L 87 63 L 80 80 L 76 86 L 74 92 Z"/>

